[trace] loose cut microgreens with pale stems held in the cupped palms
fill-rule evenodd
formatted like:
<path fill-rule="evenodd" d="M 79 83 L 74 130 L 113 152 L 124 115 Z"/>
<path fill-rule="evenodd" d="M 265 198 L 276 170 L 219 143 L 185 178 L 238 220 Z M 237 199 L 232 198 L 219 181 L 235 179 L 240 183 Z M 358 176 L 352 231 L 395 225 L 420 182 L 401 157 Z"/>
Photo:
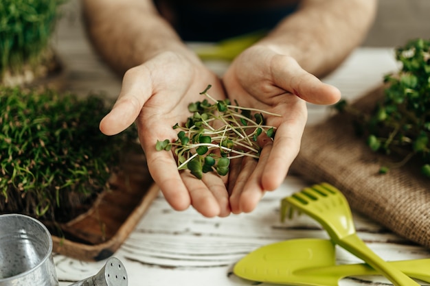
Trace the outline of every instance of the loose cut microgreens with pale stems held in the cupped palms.
<path fill-rule="evenodd" d="M 201 95 L 207 99 L 188 106 L 192 116 L 179 130 L 175 141 L 157 141 L 156 149 L 174 150 L 178 169 L 189 169 L 196 178 L 216 171 L 220 176 L 229 172 L 230 159 L 249 156 L 258 159 L 261 147 L 259 136 L 273 140 L 275 128 L 264 124 L 264 116 L 280 116 L 264 110 L 231 105 L 229 99 L 216 100 L 209 95 L 207 86 Z M 208 100 L 209 99 L 209 100 Z M 211 103 L 212 102 L 212 103 Z M 173 149 L 172 149 L 173 148 Z"/>

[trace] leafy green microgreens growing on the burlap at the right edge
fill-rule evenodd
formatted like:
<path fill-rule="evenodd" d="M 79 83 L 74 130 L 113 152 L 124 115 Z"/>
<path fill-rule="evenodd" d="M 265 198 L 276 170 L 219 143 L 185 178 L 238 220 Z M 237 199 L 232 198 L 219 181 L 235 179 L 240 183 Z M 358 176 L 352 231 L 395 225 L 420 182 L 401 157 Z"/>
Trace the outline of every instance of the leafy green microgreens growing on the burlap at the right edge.
<path fill-rule="evenodd" d="M 402 157 L 382 165 L 380 173 L 417 157 L 422 174 L 430 177 L 430 40 L 418 38 L 398 47 L 396 60 L 402 67 L 385 75 L 385 97 L 372 113 L 364 115 L 344 101 L 337 108 L 354 115 L 371 150 Z"/>

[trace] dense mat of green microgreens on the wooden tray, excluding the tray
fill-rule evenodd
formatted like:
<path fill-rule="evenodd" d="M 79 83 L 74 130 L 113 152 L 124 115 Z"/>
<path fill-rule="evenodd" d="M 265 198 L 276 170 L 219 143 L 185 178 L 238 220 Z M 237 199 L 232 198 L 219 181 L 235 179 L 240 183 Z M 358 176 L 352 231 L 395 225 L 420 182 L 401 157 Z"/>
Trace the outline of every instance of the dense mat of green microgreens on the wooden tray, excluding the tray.
<path fill-rule="evenodd" d="M 61 221 L 106 189 L 137 131 L 98 129 L 101 97 L 0 87 L 0 213 Z M 72 215 L 73 216 L 73 215 Z"/>

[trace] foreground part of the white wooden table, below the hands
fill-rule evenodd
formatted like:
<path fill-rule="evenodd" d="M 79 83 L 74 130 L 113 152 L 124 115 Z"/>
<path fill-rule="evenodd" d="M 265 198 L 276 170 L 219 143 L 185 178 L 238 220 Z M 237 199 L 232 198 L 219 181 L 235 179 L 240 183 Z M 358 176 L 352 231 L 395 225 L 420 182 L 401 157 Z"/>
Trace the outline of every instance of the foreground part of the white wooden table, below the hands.
<path fill-rule="evenodd" d="M 297 178 L 287 178 L 278 191 L 267 193 L 253 213 L 213 219 L 201 217 L 192 209 L 172 211 L 160 195 L 114 256 L 124 263 L 131 286 L 256 285 L 231 273 L 234 263 L 247 253 L 286 239 L 328 238 L 319 224 L 305 216 L 280 223 L 280 199 L 305 185 Z M 409 245 L 364 217 L 354 214 L 354 219 L 360 237 L 384 259 L 430 257 L 427 250 Z M 341 249 L 337 260 L 360 262 Z M 54 261 L 61 286 L 92 276 L 104 265 L 104 261 L 84 263 L 62 256 L 55 256 Z M 382 276 L 341 281 L 341 285 L 348 286 L 377 283 L 389 282 Z"/>

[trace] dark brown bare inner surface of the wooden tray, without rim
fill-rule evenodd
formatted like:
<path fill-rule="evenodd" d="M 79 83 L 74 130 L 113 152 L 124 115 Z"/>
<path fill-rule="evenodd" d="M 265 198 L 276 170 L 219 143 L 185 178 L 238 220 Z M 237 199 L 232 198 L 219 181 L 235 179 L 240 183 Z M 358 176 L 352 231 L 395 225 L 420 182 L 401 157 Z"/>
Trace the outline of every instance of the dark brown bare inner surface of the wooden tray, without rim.
<path fill-rule="evenodd" d="M 152 186 L 144 154 L 126 154 L 119 171 L 109 178 L 103 191 L 84 213 L 69 222 L 51 224 L 52 235 L 87 245 L 109 241 Z"/>

